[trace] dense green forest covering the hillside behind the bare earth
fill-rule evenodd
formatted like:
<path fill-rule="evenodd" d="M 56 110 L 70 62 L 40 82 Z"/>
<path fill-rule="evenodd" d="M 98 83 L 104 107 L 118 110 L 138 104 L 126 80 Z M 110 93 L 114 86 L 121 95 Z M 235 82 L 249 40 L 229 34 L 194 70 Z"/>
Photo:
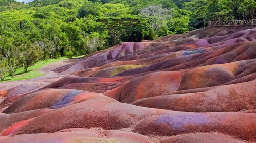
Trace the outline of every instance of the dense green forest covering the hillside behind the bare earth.
<path fill-rule="evenodd" d="M 254 19 L 254 0 L 0 0 L 0 79 L 39 60 Z"/>

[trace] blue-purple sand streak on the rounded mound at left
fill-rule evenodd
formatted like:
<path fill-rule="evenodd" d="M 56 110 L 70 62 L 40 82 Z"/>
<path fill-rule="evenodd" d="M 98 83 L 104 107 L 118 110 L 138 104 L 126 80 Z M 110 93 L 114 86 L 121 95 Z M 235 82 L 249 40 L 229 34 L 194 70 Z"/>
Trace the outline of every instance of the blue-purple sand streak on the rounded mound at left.
<path fill-rule="evenodd" d="M 56 109 L 56 108 L 61 108 L 61 107 L 65 107 L 67 105 L 70 105 L 70 102 L 74 101 L 74 97 L 77 96 L 77 94 L 79 94 L 80 92 L 82 92 L 82 91 L 80 91 L 80 90 L 72 90 L 66 96 L 64 96 L 60 101 L 58 101 L 57 103 L 53 104 L 49 108 Z"/>

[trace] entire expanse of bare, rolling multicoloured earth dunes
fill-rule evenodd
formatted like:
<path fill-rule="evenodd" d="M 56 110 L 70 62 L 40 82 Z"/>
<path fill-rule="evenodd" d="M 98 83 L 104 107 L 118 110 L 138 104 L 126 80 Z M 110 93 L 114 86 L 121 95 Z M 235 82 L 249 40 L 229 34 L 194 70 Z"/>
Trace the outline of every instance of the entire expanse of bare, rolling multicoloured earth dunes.
<path fill-rule="evenodd" d="M 55 65 L 0 84 L 0 142 L 256 142 L 255 27 L 121 43 Z"/>

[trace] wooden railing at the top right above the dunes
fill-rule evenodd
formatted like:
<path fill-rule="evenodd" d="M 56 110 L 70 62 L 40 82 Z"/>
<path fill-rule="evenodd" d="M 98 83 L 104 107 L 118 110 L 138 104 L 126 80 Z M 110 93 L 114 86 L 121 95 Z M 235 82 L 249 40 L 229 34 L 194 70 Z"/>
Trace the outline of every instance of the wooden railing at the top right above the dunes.
<path fill-rule="evenodd" d="M 252 20 L 230 20 L 230 21 L 209 21 L 209 26 L 250 26 L 256 25 L 256 19 Z"/>

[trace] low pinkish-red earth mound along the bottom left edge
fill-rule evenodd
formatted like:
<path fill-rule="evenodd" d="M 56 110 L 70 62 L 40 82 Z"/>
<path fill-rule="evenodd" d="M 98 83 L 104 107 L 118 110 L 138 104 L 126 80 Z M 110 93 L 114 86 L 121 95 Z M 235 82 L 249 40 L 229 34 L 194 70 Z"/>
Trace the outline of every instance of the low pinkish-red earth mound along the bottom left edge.
<path fill-rule="evenodd" d="M 0 138 L 1 139 L 1 138 Z M 63 143 L 76 143 L 76 142 L 150 142 L 147 138 L 142 135 L 117 131 L 117 130 L 108 130 L 108 131 L 96 131 L 93 129 L 66 129 L 56 132 L 54 134 L 27 134 L 27 135 L 18 135 L 10 138 L 2 137 L 1 142 L 40 142 L 40 143 L 48 143 L 48 142 L 63 142 Z"/>

